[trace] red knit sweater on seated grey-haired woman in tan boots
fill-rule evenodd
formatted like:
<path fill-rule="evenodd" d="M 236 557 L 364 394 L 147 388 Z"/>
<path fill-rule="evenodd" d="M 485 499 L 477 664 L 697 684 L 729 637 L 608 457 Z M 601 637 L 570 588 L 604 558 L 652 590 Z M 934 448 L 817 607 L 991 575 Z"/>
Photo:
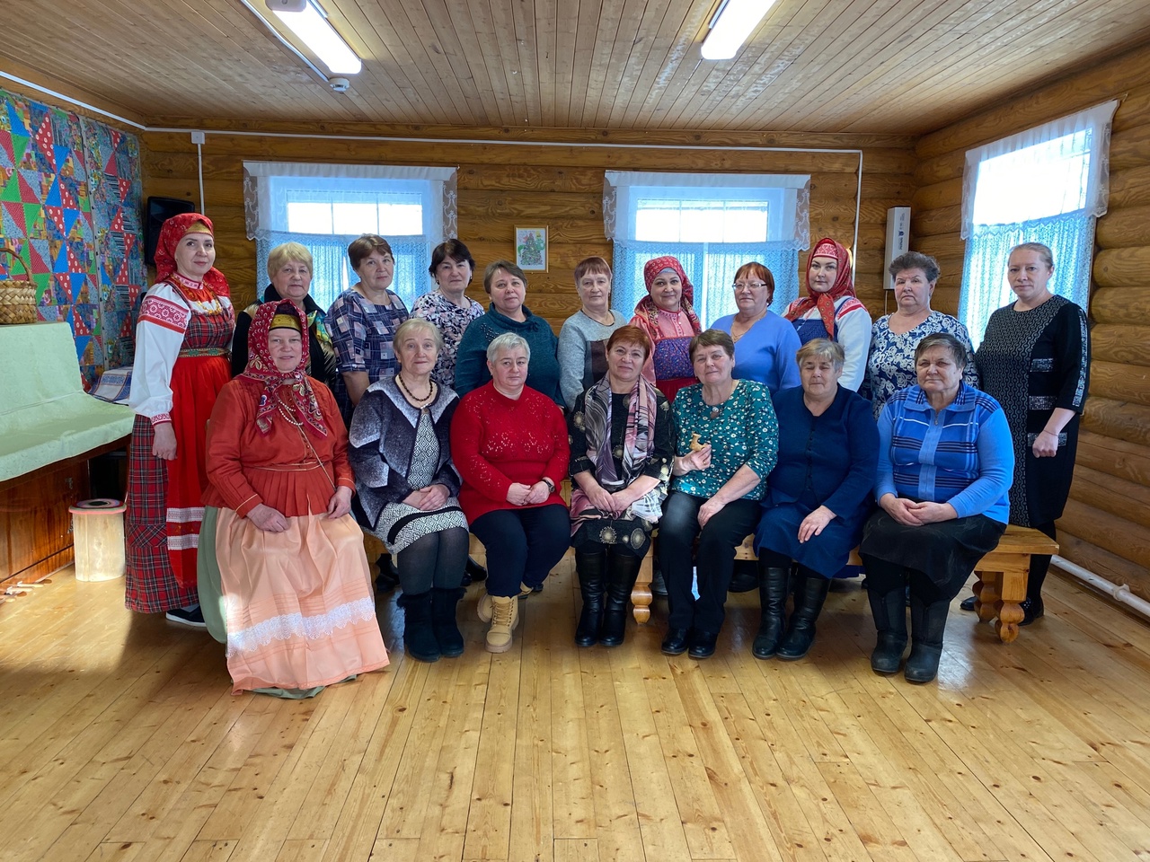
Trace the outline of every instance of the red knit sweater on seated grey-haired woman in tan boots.
<path fill-rule="evenodd" d="M 451 420 L 451 457 L 463 478 L 459 505 L 471 523 L 497 509 L 530 508 L 507 502 L 512 484 L 546 476 L 558 488 L 569 456 L 562 413 L 528 386 L 513 401 L 488 383 L 463 395 Z M 552 503 L 566 505 L 558 492 L 539 505 Z"/>

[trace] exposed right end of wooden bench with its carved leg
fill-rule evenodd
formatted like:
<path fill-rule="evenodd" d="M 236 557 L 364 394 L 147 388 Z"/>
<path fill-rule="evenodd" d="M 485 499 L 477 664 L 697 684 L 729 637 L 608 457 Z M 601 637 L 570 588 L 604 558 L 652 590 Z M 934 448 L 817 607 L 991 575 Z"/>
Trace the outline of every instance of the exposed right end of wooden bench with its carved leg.
<path fill-rule="evenodd" d="M 1022 622 L 1020 602 L 1026 598 L 1026 582 L 1030 576 L 1030 554 L 1057 553 L 1058 542 L 1045 533 L 1009 524 L 998 547 L 975 567 L 979 579 L 972 587 L 974 610 L 979 619 L 995 621 L 995 631 L 1003 644 L 1018 637 L 1018 624 Z"/>

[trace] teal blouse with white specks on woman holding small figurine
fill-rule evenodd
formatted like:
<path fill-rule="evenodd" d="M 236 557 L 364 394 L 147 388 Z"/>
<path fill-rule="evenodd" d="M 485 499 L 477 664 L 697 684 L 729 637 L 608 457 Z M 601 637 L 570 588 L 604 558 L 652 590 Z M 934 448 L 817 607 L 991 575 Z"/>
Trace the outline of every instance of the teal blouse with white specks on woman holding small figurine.
<path fill-rule="evenodd" d="M 738 380 L 719 415 L 703 400 L 703 384 L 680 390 L 672 410 L 675 415 L 675 454 L 691 451 L 691 434 L 700 444 L 711 444 L 711 467 L 691 470 L 672 479 L 672 491 L 711 498 L 746 464 L 759 476 L 759 484 L 743 495 L 744 500 L 761 500 L 767 476 L 779 454 L 779 423 L 770 403 L 770 391 L 754 380 Z"/>

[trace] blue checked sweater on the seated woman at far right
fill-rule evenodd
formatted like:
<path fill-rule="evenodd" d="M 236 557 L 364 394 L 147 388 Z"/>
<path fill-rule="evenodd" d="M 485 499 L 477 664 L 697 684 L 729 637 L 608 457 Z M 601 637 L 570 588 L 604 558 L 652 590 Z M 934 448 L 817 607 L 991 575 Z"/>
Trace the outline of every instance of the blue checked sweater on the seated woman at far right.
<path fill-rule="evenodd" d="M 1014 449 L 998 402 L 965 383 L 935 413 L 919 386 L 899 390 L 879 417 L 879 478 L 883 494 L 949 502 L 959 517 L 1007 523 Z"/>

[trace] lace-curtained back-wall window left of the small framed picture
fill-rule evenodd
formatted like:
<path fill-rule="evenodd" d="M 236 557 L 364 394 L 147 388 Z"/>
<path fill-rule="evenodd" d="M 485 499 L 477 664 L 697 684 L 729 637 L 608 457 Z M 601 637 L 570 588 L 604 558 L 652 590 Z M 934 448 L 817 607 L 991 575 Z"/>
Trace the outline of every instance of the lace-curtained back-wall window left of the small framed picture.
<path fill-rule="evenodd" d="M 411 308 L 429 288 L 431 249 L 455 236 L 455 169 L 244 162 L 244 209 L 261 295 L 268 252 L 294 240 L 312 253 L 312 298 L 327 308 L 358 280 L 347 245 L 378 233 L 396 255 L 391 288 Z"/>

